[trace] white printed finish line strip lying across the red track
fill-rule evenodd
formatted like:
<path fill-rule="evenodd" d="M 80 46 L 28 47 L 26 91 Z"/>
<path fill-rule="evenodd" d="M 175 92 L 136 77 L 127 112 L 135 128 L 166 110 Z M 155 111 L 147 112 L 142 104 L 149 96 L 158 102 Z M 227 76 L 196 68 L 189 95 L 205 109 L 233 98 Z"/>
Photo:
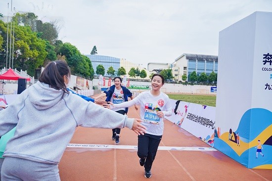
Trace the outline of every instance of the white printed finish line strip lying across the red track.
<path fill-rule="evenodd" d="M 137 149 L 133 145 L 112 145 L 112 144 L 68 144 L 67 148 L 102 148 L 102 149 Z M 173 151 L 217 151 L 213 147 L 175 147 L 175 146 L 159 146 L 158 150 Z"/>

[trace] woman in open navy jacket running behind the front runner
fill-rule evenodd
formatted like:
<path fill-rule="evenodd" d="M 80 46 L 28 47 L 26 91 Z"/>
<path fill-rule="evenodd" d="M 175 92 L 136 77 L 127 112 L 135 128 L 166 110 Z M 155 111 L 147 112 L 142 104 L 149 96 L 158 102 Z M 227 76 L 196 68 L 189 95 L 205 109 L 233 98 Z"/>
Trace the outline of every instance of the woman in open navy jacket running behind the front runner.
<path fill-rule="evenodd" d="M 131 98 L 131 100 L 134 98 L 132 95 L 132 92 L 122 86 L 122 78 L 121 77 L 115 77 L 112 82 L 114 82 L 114 85 L 109 87 L 106 91 L 95 97 L 94 100 L 99 100 L 101 97 L 105 97 L 107 102 L 113 102 L 115 104 L 120 104 L 122 102 L 128 101 L 128 97 Z M 135 109 L 138 110 L 138 107 L 135 105 Z M 129 108 L 128 107 L 121 107 L 121 108 L 113 108 L 113 111 L 120 113 L 120 114 L 127 114 Z M 112 129 L 112 140 L 115 140 L 116 144 L 119 144 L 120 142 L 120 128 Z"/>

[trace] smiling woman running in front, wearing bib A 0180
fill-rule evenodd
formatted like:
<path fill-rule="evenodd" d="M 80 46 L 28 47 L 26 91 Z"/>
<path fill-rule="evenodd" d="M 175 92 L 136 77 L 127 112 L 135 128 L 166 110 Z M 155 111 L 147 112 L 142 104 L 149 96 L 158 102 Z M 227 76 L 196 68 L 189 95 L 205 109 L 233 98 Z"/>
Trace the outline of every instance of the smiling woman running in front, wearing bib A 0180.
<path fill-rule="evenodd" d="M 141 123 L 145 126 L 146 133 L 138 136 L 138 151 L 137 155 L 140 158 L 140 166 L 144 166 L 145 177 L 151 177 L 151 167 L 155 159 L 159 143 L 161 141 L 164 129 L 164 116 L 172 115 L 172 107 L 168 95 L 160 91 L 164 85 L 164 78 L 160 74 L 154 74 L 151 78 L 152 90 L 141 92 L 133 100 L 123 102 L 121 104 L 113 104 L 105 107 L 121 108 L 130 107 L 132 105 L 140 105 L 140 117 L 143 120 Z"/>

